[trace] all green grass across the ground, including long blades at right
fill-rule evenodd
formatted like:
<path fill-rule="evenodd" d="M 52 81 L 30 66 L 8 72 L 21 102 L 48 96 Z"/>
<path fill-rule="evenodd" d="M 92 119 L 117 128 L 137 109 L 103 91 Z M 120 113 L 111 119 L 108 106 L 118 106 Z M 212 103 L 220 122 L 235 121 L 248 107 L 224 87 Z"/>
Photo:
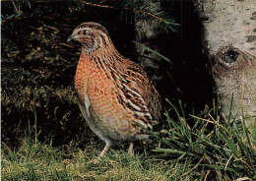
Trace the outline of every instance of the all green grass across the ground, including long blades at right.
<path fill-rule="evenodd" d="M 90 145 L 54 148 L 37 141 L 36 119 L 18 150 L 2 143 L 3 180 L 253 180 L 256 179 L 256 127 L 220 119 L 218 109 L 185 117 L 182 103 L 165 111 L 160 133 L 137 147 L 135 157 L 112 149 L 98 163 Z M 36 117 L 36 116 L 35 116 Z M 193 124 L 188 124 L 193 123 Z M 143 144 L 143 143 L 141 143 Z M 100 148 L 103 145 L 100 144 Z M 147 149 L 148 148 L 148 149 Z"/>

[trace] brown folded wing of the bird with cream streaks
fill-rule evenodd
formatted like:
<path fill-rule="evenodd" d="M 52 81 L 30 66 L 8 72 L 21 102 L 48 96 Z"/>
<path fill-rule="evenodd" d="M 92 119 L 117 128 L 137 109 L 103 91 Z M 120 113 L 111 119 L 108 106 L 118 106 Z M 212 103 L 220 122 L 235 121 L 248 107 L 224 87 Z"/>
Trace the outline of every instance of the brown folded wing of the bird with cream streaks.
<path fill-rule="evenodd" d="M 126 104 L 139 120 L 152 127 L 159 118 L 160 94 L 146 72 L 135 62 L 125 59 L 118 66 L 116 83 L 121 103 Z M 146 127 L 146 128 L 147 128 Z"/>

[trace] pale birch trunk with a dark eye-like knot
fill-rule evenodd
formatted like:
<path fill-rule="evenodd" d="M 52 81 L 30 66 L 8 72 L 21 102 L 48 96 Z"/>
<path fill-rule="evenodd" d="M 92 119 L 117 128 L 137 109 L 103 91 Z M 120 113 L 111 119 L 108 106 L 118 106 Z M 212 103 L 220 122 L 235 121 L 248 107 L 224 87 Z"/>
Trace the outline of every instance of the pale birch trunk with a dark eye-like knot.
<path fill-rule="evenodd" d="M 227 117 L 256 120 L 256 1 L 197 0 L 216 91 Z M 231 119 L 232 119 L 231 118 Z"/>

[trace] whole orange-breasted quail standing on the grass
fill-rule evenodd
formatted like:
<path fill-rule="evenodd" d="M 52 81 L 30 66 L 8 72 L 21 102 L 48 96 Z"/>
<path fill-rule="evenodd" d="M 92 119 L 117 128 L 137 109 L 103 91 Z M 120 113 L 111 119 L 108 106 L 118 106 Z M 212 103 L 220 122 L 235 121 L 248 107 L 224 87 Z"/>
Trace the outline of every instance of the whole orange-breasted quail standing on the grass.
<path fill-rule="evenodd" d="M 128 153 L 134 156 L 134 142 L 148 139 L 148 131 L 158 124 L 159 91 L 139 64 L 116 50 L 100 24 L 81 24 L 71 40 L 82 44 L 75 91 L 83 117 L 105 142 L 99 157 L 119 141 L 130 143 Z"/>

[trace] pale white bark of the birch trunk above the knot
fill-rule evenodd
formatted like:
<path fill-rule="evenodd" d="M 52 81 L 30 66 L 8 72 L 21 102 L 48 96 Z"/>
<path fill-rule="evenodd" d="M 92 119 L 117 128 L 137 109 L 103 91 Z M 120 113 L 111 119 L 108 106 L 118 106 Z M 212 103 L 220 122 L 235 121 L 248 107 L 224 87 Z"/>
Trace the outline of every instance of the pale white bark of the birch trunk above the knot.
<path fill-rule="evenodd" d="M 256 0 L 197 0 L 211 54 L 234 47 L 256 55 Z"/>

